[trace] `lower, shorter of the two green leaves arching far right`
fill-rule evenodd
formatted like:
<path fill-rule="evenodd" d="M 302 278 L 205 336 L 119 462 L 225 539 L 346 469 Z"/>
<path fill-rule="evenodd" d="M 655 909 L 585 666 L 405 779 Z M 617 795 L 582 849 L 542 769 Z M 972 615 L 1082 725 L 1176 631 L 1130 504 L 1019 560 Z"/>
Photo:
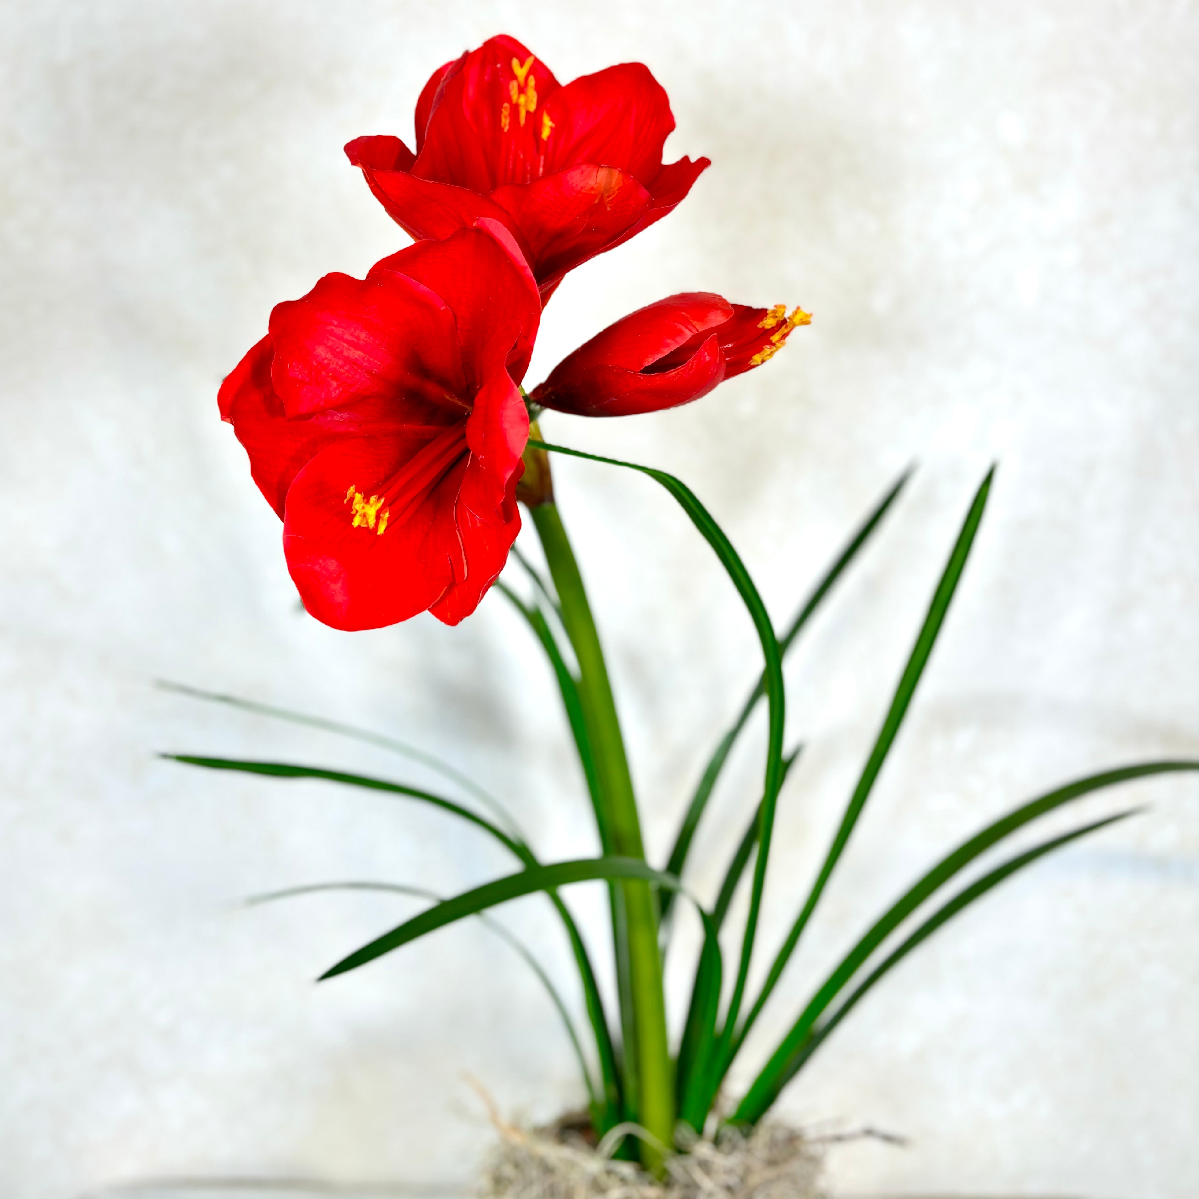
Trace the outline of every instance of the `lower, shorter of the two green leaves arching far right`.
<path fill-rule="evenodd" d="M 808 1010 L 805 1011 L 803 1017 L 795 1024 L 791 1032 L 784 1040 L 784 1042 L 778 1047 L 775 1055 L 767 1062 L 766 1067 L 754 1080 L 753 1086 L 746 1093 L 745 1098 L 737 1105 L 736 1111 L 733 1114 L 731 1123 L 757 1123 L 766 1111 L 770 1109 L 771 1104 L 778 1098 L 783 1087 L 799 1073 L 803 1064 L 815 1053 L 817 1048 L 825 1040 L 825 1037 L 849 1014 L 852 1007 L 862 999 L 863 995 L 894 965 L 897 965 L 904 957 L 906 957 L 921 941 L 929 938 L 938 928 L 940 928 L 946 921 L 956 916 L 963 908 L 974 903 L 992 887 L 998 886 L 1004 879 L 1014 874 L 1017 870 L 1023 869 L 1031 862 L 1035 862 L 1038 857 L 1043 857 L 1046 854 L 1058 849 L 1061 845 L 1066 845 L 1079 837 L 1086 836 L 1089 832 L 1095 832 L 1097 829 L 1103 829 L 1109 824 L 1114 824 L 1117 820 L 1125 820 L 1133 815 L 1140 809 L 1134 808 L 1129 812 L 1121 812 L 1114 817 L 1107 817 L 1103 820 L 1096 820 L 1092 824 L 1084 825 L 1081 829 L 1076 829 L 1072 832 L 1065 833 L 1060 837 L 1054 837 L 1052 840 L 1047 840 L 1034 849 L 1028 850 L 1017 857 L 1010 858 L 1002 866 L 988 874 L 984 874 L 976 882 L 971 884 L 964 891 L 954 896 L 948 903 L 942 908 L 938 909 L 928 920 L 924 921 L 902 945 L 899 945 L 893 953 L 891 953 L 886 959 L 884 959 L 870 975 L 863 980 L 861 986 L 840 1005 L 837 1012 L 824 1023 L 824 1025 L 817 1028 L 815 1022 L 824 1011 L 823 1006 L 818 1006 L 818 999 L 813 999 Z M 823 992 L 821 992 L 823 994 Z M 825 1005 L 827 1006 L 827 1005 Z"/>

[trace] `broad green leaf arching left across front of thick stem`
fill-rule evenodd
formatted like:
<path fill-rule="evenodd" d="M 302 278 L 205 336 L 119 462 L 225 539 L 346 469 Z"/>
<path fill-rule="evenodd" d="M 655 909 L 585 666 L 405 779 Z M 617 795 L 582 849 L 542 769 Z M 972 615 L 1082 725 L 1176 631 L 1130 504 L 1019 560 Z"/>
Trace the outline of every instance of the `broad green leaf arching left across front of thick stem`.
<path fill-rule="evenodd" d="M 323 980 L 332 978 L 349 970 L 356 970 L 392 950 L 398 950 L 402 945 L 415 941 L 417 938 L 445 928 L 446 924 L 452 924 L 465 916 L 474 916 L 476 912 L 494 908 L 496 904 L 507 903 L 510 899 L 518 899 L 520 896 L 534 894 L 537 891 L 571 886 L 576 882 L 589 882 L 595 879 L 639 879 L 643 882 L 653 882 L 671 890 L 677 890 L 681 886 L 674 875 L 655 870 L 635 857 L 594 857 L 573 862 L 555 862 L 552 866 L 531 866 L 518 874 L 484 882 L 481 887 L 464 891 L 452 899 L 446 899 L 429 908 L 428 911 L 422 911 L 390 933 L 375 938 L 369 945 L 363 945 L 362 948 L 343 958 L 320 977 Z"/>

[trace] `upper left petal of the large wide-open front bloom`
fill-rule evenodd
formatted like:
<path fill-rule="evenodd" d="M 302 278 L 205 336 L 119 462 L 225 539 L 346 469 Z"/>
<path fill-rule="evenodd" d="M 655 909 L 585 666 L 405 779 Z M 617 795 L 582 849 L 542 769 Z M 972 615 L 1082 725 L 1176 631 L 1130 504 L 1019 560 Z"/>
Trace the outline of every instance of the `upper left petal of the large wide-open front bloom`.
<path fill-rule="evenodd" d="M 402 275 L 326 275 L 276 305 L 270 331 L 271 380 L 289 416 L 403 394 L 421 409 L 409 418 L 444 423 L 436 414 L 465 393 L 453 313 Z"/>

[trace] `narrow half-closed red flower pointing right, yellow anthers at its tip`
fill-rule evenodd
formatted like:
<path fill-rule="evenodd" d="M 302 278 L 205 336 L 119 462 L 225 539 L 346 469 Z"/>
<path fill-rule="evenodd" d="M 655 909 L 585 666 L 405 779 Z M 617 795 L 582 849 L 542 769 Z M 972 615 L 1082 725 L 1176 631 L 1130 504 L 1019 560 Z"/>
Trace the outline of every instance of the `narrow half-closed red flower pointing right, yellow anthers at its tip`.
<path fill-rule="evenodd" d="M 761 366 L 812 317 L 747 308 L 710 291 L 667 296 L 629 313 L 554 367 L 530 399 L 579 416 L 677 408 Z"/>

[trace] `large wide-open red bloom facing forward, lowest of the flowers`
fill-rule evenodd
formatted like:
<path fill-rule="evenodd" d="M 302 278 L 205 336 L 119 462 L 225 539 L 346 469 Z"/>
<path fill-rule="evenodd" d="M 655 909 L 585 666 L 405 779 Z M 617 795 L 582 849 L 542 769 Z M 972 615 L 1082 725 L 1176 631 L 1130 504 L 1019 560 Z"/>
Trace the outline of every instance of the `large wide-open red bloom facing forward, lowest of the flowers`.
<path fill-rule="evenodd" d="M 540 317 L 519 249 L 487 219 L 276 306 L 221 415 L 318 620 L 378 628 L 429 609 L 456 625 L 475 610 L 520 529 L 517 382 Z"/>

